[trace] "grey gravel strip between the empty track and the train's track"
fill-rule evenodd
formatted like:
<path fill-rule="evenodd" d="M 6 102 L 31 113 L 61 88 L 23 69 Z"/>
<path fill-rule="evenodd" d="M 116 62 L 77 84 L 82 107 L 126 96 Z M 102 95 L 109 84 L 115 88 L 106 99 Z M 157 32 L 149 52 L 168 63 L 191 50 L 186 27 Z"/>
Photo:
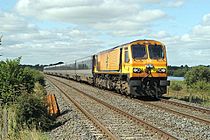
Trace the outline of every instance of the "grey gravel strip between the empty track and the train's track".
<path fill-rule="evenodd" d="M 111 94 L 89 85 L 80 84 L 74 81 L 62 79 L 68 84 L 97 97 L 111 105 L 123 109 L 140 119 L 144 119 L 150 124 L 178 137 L 179 139 L 210 140 L 210 126 L 196 122 L 182 116 L 175 115 L 165 110 L 157 109 L 143 103 L 137 103 L 128 98 L 123 98 Z"/>

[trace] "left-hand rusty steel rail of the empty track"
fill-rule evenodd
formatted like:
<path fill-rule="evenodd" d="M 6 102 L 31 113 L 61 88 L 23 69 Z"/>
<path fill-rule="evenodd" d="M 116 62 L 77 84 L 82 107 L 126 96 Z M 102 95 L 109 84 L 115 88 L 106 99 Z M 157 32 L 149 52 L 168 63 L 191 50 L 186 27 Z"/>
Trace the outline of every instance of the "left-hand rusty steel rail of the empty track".
<path fill-rule="evenodd" d="M 93 122 L 93 124 L 99 128 L 102 133 L 107 135 L 111 140 L 118 140 L 115 135 L 113 135 L 100 121 L 98 121 L 90 112 L 88 112 L 86 109 L 84 109 L 76 100 L 74 100 L 71 96 L 65 93 L 59 86 L 57 86 L 50 78 L 46 77 L 45 78 L 50 81 L 56 88 L 59 89 L 61 93 L 63 93 L 66 98 L 68 98 L 89 120 Z"/>

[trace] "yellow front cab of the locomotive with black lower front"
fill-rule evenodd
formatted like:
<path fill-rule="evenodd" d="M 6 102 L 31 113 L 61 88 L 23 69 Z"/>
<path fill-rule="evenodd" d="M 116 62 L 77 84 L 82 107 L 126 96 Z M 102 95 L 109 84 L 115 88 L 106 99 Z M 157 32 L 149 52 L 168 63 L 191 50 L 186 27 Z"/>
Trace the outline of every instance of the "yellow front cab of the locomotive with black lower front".
<path fill-rule="evenodd" d="M 123 47 L 122 73 L 127 73 L 132 96 L 162 96 L 168 85 L 165 46 L 145 40 Z"/>

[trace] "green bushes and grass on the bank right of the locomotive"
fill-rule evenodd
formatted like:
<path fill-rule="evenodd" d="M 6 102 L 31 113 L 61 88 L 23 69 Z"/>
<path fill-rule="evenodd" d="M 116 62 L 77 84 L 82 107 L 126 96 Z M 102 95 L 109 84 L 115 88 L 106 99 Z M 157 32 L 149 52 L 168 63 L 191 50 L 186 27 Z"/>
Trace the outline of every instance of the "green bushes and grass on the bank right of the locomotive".
<path fill-rule="evenodd" d="M 210 106 L 210 68 L 196 66 L 184 75 L 184 81 L 172 81 L 169 95 Z"/>

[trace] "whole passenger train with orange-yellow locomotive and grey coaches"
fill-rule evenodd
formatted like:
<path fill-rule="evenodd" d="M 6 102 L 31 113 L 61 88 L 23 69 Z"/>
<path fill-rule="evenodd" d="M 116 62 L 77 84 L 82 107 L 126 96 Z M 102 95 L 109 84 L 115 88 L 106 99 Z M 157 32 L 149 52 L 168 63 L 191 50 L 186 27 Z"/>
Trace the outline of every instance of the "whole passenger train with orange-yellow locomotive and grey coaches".
<path fill-rule="evenodd" d="M 155 40 L 135 40 L 69 64 L 46 66 L 44 73 L 130 97 L 160 98 L 170 85 L 166 47 Z"/>

